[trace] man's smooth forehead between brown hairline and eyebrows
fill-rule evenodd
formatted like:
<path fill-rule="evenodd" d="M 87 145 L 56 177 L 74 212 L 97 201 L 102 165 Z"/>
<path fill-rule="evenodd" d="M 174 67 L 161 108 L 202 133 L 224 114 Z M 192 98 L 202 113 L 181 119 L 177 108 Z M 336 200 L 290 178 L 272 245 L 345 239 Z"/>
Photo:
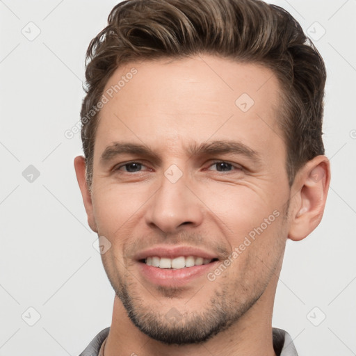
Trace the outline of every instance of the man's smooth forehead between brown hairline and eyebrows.
<path fill-rule="evenodd" d="M 182 140 L 236 138 L 264 149 L 282 140 L 279 92 L 268 68 L 216 56 L 129 63 L 106 83 L 95 147 L 128 138 L 178 149 Z"/>

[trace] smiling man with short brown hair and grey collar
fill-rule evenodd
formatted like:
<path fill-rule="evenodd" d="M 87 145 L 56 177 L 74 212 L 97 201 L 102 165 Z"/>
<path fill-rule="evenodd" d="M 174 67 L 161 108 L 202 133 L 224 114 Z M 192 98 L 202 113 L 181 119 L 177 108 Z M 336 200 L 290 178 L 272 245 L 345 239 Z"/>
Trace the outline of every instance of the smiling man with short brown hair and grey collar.
<path fill-rule="evenodd" d="M 81 355 L 297 355 L 275 290 L 330 182 L 325 66 L 298 22 L 256 0 L 129 0 L 87 56 L 74 165 L 115 301 Z"/>

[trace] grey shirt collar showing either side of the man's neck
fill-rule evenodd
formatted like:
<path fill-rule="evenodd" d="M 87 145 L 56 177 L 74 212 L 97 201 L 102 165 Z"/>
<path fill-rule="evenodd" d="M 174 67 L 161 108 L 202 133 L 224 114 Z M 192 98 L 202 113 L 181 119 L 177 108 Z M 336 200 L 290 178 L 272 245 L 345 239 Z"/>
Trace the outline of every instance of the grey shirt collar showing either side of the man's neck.
<path fill-rule="evenodd" d="M 110 327 L 102 330 L 92 339 L 87 348 L 79 356 L 102 356 L 104 348 L 102 345 L 108 337 Z M 298 356 L 293 340 L 288 332 L 273 327 L 273 348 L 277 356 Z"/>

